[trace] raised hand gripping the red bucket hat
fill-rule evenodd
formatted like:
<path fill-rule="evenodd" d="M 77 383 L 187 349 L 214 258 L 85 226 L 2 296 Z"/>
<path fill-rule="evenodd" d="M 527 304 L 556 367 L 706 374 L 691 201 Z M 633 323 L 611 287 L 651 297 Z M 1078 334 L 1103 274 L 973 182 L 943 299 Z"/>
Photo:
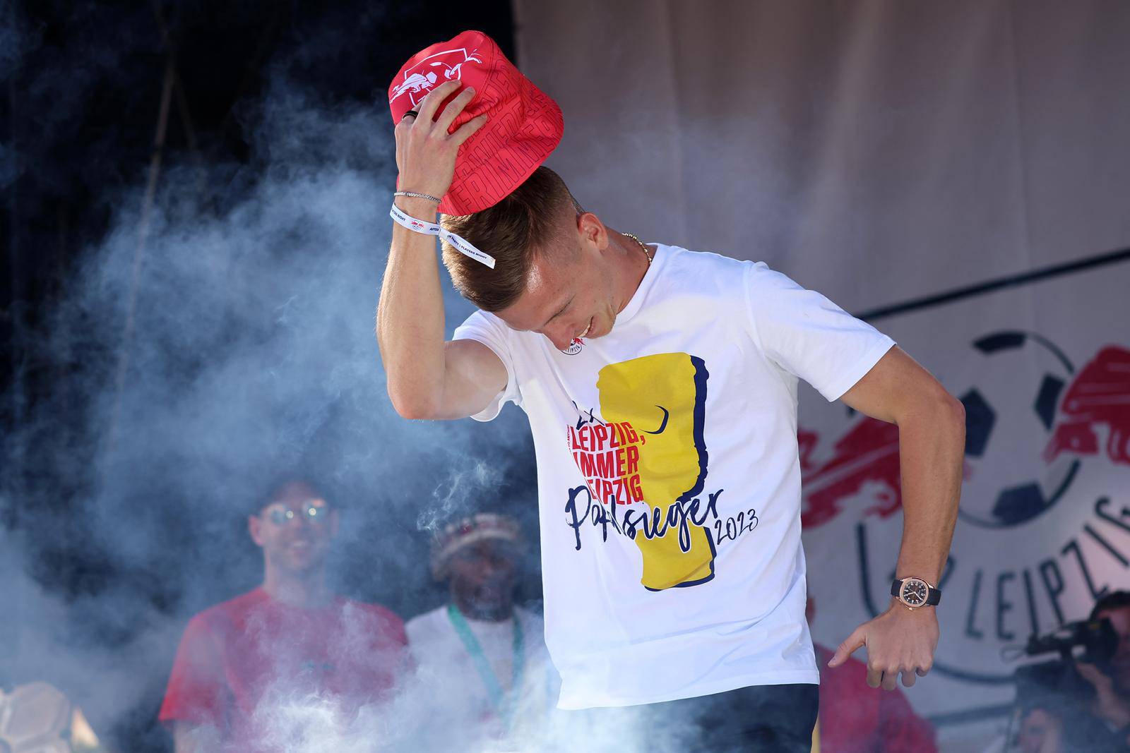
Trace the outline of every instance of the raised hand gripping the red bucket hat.
<path fill-rule="evenodd" d="M 415 111 L 409 111 L 395 128 L 397 168 L 400 170 L 401 191 L 415 191 L 442 196 L 451 187 L 455 174 L 455 155 L 459 147 L 487 122 L 486 113 L 463 123 L 454 133 L 451 124 L 475 97 L 475 89 L 467 87 L 447 103 L 438 117 L 436 111 L 460 86 L 452 79 L 432 89 Z M 416 112 L 416 115 L 412 113 Z"/>

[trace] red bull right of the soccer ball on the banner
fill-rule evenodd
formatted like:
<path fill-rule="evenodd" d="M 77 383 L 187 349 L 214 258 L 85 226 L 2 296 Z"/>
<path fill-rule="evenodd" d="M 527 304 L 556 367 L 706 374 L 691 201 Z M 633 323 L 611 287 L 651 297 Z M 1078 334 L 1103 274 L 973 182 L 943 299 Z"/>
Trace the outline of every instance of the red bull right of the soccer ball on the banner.
<path fill-rule="evenodd" d="M 1130 350 L 1118 345 L 1098 351 L 1068 387 L 1044 461 L 1061 453 L 1097 455 L 1101 431 L 1106 456 L 1130 464 Z"/>

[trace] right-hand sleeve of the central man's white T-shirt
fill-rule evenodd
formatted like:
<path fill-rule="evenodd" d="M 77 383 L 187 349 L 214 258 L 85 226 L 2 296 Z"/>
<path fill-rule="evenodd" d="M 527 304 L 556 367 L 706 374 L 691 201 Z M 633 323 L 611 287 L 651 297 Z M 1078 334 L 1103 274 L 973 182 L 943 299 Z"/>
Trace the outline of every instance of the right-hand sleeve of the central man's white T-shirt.
<path fill-rule="evenodd" d="M 780 368 L 838 400 L 895 341 L 765 262 L 746 268 L 754 339 Z"/>

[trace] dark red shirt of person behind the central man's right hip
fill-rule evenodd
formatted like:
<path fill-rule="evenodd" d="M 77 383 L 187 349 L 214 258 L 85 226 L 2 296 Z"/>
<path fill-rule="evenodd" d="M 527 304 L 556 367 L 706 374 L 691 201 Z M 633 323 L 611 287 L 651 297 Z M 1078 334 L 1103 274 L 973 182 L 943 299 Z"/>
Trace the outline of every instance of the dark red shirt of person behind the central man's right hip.
<path fill-rule="evenodd" d="M 914 713 L 901 690 L 870 688 L 867 665 L 858 659 L 831 668 L 832 656 L 816 647 L 820 753 L 937 753 L 933 727 Z"/>

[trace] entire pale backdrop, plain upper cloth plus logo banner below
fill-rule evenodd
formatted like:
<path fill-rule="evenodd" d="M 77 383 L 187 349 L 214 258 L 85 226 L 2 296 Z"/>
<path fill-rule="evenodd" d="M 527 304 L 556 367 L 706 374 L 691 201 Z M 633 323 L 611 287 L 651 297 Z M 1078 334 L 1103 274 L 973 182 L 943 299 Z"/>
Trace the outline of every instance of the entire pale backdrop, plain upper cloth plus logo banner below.
<path fill-rule="evenodd" d="M 548 164 L 586 209 L 768 262 L 965 402 L 938 669 L 906 692 L 944 750 L 999 739 L 1008 649 L 1130 585 L 1130 3 L 514 10 L 518 62 L 565 114 Z M 898 435 L 807 387 L 800 427 L 814 636 L 835 646 L 888 598 Z"/>

